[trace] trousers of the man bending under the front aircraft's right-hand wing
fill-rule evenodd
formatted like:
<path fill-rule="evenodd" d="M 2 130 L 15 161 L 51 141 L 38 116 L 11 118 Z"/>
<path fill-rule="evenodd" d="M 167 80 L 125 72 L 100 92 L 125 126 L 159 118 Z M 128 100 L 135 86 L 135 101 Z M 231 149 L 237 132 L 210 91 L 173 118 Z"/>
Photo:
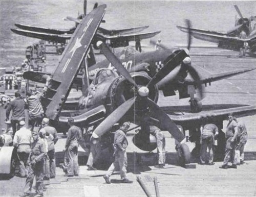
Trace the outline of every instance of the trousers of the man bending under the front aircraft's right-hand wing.
<path fill-rule="evenodd" d="M 212 150 L 214 143 L 212 141 L 212 136 L 202 139 L 201 150 L 200 150 L 200 161 L 201 163 L 214 161 L 214 151 Z M 207 156 L 207 148 L 209 149 L 209 154 Z"/>

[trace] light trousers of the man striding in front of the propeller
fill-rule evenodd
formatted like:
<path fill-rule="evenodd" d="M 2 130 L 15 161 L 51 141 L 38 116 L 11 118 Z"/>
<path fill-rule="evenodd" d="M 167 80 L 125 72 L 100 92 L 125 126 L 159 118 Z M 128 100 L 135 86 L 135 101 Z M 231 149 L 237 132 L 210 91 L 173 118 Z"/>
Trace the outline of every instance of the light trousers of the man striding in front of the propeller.
<path fill-rule="evenodd" d="M 121 179 L 126 179 L 127 155 L 126 151 L 118 151 L 115 153 L 115 161 L 111 164 L 106 175 L 111 176 L 114 171 L 120 169 Z"/>

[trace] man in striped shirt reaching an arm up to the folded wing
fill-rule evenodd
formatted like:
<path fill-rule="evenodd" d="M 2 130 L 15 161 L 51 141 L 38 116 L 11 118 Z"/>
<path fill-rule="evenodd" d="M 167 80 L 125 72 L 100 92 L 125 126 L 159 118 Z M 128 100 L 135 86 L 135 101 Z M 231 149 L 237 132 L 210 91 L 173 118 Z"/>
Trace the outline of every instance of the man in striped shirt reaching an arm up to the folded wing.
<path fill-rule="evenodd" d="M 47 91 L 50 80 L 51 78 L 48 77 L 45 87 L 41 91 L 37 93 L 34 93 L 32 91 L 27 92 L 26 102 L 29 110 L 29 125 L 32 126 L 32 131 L 37 123 L 41 124 L 42 118 L 44 117 L 44 109 L 42 108 L 40 100 Z"/>

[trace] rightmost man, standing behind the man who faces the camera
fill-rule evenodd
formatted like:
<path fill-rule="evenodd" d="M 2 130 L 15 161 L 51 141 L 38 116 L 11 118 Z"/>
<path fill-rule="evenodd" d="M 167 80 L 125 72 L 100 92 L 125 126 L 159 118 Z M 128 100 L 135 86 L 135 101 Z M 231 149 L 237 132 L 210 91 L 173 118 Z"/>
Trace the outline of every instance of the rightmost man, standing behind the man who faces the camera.
<path fill-rule="evenodd" d="M 244 122 L 242 120 L 238 121 L 237 118 L 234 116 L 233 116 L 233 119 L 238 124 L 238 133 L 239 133 L 238 135 L 240 137 L 240 141 L 236 149 L 236 156 L 237 156 L 237 162 L 238 162 L 237 165 L 240 165 L 240 164 L 244 164 L 244 146 L 247 142 L 248 135 L 247 135 L 247 130 Z"/>

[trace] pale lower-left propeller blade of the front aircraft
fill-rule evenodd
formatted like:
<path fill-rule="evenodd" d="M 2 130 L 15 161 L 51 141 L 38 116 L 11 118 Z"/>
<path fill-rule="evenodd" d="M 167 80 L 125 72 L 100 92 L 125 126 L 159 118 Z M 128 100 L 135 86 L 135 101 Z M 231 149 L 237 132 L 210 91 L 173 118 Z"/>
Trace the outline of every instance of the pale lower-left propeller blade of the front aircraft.
<path fill-rule="evenodd" d="M 111 127 L 118 122 L 123 115 L 133 106 L 136 96 L 125 101 L 122 105 L 116 108 L 108 117 L 106 117 L 99 126 L 94 130 L 91 138 L 98 138 L 108 132 Z"/>

